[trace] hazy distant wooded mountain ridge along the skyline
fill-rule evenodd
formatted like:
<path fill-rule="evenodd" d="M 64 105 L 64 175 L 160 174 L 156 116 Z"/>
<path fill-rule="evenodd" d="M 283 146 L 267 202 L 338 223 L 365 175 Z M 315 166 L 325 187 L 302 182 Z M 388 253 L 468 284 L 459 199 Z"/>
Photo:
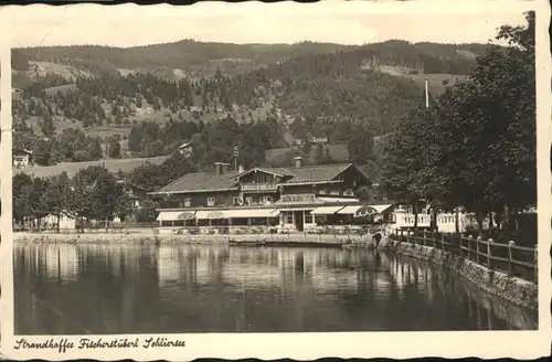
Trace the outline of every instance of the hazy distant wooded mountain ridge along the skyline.
<path fill-rule="evenodd" d="M 304 55 L 361 51 L 383 62 L 404 60 L 411 64 L 425 57 L 471 60 L 485 52 L 485 44 L 437 44 L 386 41 L 367 45 L 300 42 L 295 44 L 232 44 L 182 40 L 174 43 L 134 47 L 71 45 L 14 49 L 12 66 L 25 70 L 29 61 L 65 63 L 87 61 L 97 66 L 107 64 L 121 70 L 184 70 L 187 73 L 220 67 L 223 74 L 248 71 L 265 64 Z M 216 64 L 209 63 L 215 62 Z M 242 63 L 240 65 L 236 65 Z M 244 64 L 245 63 L 245 64 Z M 88 66 L 91 65 L 88 64 Z M 434 72 L 426 72 L 434 73 Z M 213 73 L 210 73 L 213 74 Z M 202 74 L 200 74 L 201 76 Z"/>

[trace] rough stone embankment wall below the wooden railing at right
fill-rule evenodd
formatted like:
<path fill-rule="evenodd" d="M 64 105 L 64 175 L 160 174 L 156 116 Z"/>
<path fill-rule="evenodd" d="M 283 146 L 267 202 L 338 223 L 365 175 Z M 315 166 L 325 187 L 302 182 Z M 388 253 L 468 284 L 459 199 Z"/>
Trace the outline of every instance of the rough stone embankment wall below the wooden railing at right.
<path fill-rule="evenodd" d="M 482 265 L 429 246 L 401 243 L 384 237 L 379 247 L 390 248 L 397 254 L 446 267 L 491 295 L 501 297 L 517 306 L 532 310 L 538 309 L 539 294 L 534 283 L 509 276 L 499 270 L 489 270 Z"/>

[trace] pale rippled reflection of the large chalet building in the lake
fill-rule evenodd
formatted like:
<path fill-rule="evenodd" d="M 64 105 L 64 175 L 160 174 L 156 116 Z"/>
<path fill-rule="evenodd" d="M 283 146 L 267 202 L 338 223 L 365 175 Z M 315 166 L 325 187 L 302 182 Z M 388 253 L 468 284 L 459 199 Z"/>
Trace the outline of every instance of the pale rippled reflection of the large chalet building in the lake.
<path fill-rule="evenodd" d="M 375 253 L 362 255 L 340 249 L 204 248 L 161 246 L 158 252 L 160 285 L 212 285 L 236 288 L 310 288 L 323 292 L 355 291 L 389 285 L 390 260 L 375 265 Z M 382 260 L 379 260 L 382 264 Z"/>

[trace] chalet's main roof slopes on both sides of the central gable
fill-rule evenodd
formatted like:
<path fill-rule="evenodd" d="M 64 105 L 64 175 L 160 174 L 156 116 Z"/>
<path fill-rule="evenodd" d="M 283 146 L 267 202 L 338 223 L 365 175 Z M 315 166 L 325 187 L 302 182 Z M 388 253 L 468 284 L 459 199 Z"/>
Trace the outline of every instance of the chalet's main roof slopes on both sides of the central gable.
<path fill-rule="evenodd" d="M 153 193 L 237 190 L 237 177 L 255 170 L 289 177 L 290 179 L 280 183 L 283 185 L 331 182 L 336 177 L 352 166 L 352 163 L 340 163 L 306 166 L 301 168 L 253 168 L 244 172 L 227 171 L 221 175 L 217 175 L 216 172 L 188 173 Z"/>

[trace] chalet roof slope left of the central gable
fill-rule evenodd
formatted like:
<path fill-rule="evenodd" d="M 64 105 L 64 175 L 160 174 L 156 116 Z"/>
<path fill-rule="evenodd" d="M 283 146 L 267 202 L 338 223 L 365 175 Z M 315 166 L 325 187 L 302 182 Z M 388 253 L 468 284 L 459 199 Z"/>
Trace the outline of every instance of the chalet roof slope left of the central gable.
<path fill-rule="evenodd" d="M 235 171 L 216 174 L 216 172 L 188 173 L 169 183 L 156 193 L 206 192 L 237 189 Z"/>

